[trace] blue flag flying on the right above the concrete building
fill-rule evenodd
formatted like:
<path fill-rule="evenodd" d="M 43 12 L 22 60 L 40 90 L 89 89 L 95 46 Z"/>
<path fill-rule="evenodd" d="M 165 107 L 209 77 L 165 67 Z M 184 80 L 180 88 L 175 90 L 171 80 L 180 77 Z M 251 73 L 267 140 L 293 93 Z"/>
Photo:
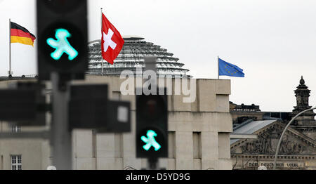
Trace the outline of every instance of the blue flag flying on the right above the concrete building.
<path fill-rule="evenodd" d="M 244 77 L 244 70 L 236 65 L 225 62 L 218 58 L 218 75 L 226 75 L 230 77 Z"/>

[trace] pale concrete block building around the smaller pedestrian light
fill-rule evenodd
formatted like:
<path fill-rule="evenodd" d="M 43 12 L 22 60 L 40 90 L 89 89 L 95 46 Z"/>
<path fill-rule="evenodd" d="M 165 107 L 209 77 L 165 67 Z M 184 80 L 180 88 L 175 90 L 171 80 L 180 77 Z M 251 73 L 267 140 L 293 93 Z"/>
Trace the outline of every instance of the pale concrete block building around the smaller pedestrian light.
<path fill-rule="evenodd" d="M 137 79 L 133 79 L 136 81 Z M 124 79 L 117 77 L 90 76 L 84 83 L 110 84 L 109 96 L 116 100 L 131 101 L 132 131 L 121 134 L 98 134 L 96 155 L 91 157 L 91 131 L 75 131 L 80 139 L 77 145 L 76 169 L 141 169 L 147 166 L 146 159 L 136 159 L 135 150 L 135 96 L 117 96 Z M 175 79 L 172 79 L 172 92 L 176 91 Z M 82 82 L 77 82 L 80 84 Z M 166 81 L 165 81 L 166 84 Z M 189 87 L 190 88 L 190 87 Z M 230 160 L 230 132 L 232 117 L 229 112 L 229 80 L 197 79 L 197 98 L 193 103 L 183 103 L 183 95 L 169 96 L 169 140 L 174 147 L 169 150 L 169 159 L 160 159 L 159 164 L 166 169 L 232 169 Z M 200 133 L 199 152 L 195 158 L 193 152 L 193 133 Z M 119 139 L 119 140 L 117 140 Z M 122 147 L 118 147 L 119 143 Z M 84 147 L 82 146 L 84 145 Z M 170 149 L 170 146 L 169 146 Z M 117 156 L 119 155 L 119 156 Z M 88 164 L 95 162 L 94 164 Z M 84 164 L 86 163 L 86 164 Z"/>

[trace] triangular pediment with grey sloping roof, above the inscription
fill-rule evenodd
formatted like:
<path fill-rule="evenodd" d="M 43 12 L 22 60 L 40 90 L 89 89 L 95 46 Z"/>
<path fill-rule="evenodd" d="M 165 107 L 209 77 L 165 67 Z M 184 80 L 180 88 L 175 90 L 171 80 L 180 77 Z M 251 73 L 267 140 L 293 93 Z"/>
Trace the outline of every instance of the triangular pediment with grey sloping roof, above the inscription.
<path fill-rule="evenodd" d="M 230 140 L 232 155 L 274 155 L 285 124 L 279 120 L 252 121 L 234 133 L 258 135 L 258 139 Z M 281 155 L 315 155 L 316 141 L 289 127 L 283 138 Z"/>

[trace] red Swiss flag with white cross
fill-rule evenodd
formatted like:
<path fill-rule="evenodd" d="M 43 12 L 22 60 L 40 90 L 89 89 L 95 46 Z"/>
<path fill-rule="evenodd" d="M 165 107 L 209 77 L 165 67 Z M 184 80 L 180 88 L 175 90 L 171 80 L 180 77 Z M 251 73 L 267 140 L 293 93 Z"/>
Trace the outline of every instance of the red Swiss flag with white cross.
<path fill-rule="evenodd" d="M 113 65 L 123 45 L 124 39 L 121 37 L 121 34 L 102 13 L 101 49 L 103 59 Z"/>

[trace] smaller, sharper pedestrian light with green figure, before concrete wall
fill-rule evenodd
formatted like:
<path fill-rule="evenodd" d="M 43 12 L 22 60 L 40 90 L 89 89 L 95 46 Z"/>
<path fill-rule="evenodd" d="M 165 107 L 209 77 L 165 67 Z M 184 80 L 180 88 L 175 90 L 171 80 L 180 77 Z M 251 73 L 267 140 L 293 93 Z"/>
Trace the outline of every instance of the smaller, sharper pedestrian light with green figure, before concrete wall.
<path fill-rule="evenodd" d="M 136 157 L 168 157 L 166 95 L 136 96 Z"/>

